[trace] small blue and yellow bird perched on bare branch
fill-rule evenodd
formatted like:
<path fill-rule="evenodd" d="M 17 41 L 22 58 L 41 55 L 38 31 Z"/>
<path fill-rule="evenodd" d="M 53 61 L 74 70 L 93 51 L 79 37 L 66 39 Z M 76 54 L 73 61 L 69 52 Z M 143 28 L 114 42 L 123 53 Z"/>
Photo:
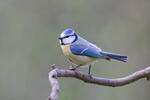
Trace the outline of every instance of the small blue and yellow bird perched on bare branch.
<path fill-rule="evenodd" d="M 114 59 L 122 62 L 127 62 L 128 59 L 124 55 L 103 51 L 100 47 L 80 37 L 72 28 L 65 29 L 58 39 L 63 54 L 76 65 L 71 70 L 88 65 L 88 74 L 90 75 L 91 64 L 99 59 L 108 61 Z"/>

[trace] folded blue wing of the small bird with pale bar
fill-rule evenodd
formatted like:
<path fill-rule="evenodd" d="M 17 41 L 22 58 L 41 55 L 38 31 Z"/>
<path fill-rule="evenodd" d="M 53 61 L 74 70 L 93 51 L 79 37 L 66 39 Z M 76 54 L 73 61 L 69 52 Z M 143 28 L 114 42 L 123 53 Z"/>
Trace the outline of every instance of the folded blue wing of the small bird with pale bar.
<path fill-rule="evenodd" d="M 104 58 L 104 56 L 101 55 L 100 50 L 94 46 L 74 44 L 70 46 L 70 50 L 76 55 Z"/>

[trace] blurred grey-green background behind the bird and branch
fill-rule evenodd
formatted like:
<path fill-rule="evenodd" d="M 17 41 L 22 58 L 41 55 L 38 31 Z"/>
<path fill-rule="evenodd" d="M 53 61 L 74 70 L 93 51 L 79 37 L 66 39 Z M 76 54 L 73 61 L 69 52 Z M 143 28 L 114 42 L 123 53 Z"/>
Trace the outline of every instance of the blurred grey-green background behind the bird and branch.
<path fill-rule="evenodd" d="M 150 0 L 0 0 L 0 100 L 46 100 L 48 64 L 69 66 L 57 39 L 66 28 L 129 57 L 127 63 L 100 60 L 94 76 L 119 78 L 150 65 Z M 73 78 L 59 83 L 60 100 L 150 99 L 144 79 L 116 88 Z"/>

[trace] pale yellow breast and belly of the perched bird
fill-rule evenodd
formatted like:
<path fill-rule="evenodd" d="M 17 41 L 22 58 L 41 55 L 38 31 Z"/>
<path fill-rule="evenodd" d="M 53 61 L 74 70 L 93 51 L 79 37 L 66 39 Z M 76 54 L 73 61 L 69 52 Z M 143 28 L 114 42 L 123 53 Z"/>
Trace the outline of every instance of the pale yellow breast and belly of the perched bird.
<path fill-rule="evenodd" d="M 98 60 L 98 58 L 93 57 L 87 57 L 87 56 L 79 56 L 75 55 L 70 51 L 70 44 L 68 45 L 61 45 L 62 51 L 64 55 L 74 64 L 77 65 L 86 65 L 89 64 L 95 60 Z"/>

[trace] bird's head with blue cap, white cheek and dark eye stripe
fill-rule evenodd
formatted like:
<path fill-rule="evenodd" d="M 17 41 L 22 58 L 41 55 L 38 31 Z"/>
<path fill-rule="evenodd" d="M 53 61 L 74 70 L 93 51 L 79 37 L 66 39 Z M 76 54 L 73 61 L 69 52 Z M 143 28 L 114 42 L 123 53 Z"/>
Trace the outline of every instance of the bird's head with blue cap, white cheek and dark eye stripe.
<path fill-rule="evenodd" d="M 68 28 L 60 34 L 58 39 L 60 40 L 61 45 L 67 45 L 75 42 L 78 39 L 78 35 L 73 29 Z"/>

